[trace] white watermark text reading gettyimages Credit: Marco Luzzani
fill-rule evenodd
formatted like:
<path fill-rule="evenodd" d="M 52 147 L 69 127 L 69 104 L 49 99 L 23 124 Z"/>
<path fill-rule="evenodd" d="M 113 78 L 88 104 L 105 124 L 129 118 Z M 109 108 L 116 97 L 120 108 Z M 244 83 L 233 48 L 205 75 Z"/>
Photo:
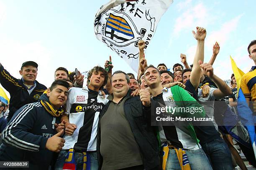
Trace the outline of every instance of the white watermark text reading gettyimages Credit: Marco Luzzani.
<path fill-rule="evenodd" d="M 203 107 L 156 107 L 156 114 L 164 117 L 157 116 L 156 121 L 213 121 L 214 117 L 196 117 L 191 116 L 197 112 L 202 112 Z M 176 116 L 175 113 L 184 113 L 184 115 L 189 115 L 187 117 L 184 116 Z"/>

